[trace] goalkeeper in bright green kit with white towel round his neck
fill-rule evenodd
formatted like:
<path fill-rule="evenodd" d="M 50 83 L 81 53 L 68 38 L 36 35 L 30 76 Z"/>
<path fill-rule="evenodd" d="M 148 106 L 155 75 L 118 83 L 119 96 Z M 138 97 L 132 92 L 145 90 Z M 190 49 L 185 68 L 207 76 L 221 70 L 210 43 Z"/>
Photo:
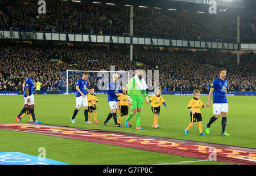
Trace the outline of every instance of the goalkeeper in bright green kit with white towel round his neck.
<path fill-rule="evenodd" d="M 141 109 L 143 107 L 143 96 L 149 102 L 146 81 L 142 78 L 142 70 L 138 69 L 135 76 L 129 80 L 127 84 L 128 104 L 131 105 L 131 113 L 125 120 L 125 126 L 131 127 L 130 119 L 136 114 L 137 124 L 136 130 L 143 130 L 141 127 Z M 143 95 L 143 96 L 142 96 Z"/>

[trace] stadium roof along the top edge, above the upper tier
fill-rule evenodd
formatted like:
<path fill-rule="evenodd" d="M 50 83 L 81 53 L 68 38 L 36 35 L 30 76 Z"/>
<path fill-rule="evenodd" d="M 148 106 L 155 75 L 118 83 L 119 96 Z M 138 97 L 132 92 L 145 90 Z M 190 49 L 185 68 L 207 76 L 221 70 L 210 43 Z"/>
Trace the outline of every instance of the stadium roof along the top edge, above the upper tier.
<path fill-rule="evenodd" d="M 68 0 L 71 1 L 71 0 Z M 109 4 L 109 5 L 134 5 L 135 7 L 143 6 L 148 8 L 162 8 L 162 9 L 176 9 L 176 10 L 188 10 L 188 11 L 204 11 L 208 12 L 208 8 L 210 5 L 199 3 L 207 2 L 209 0 L 79 0 L 82 2 L 98 2 L 101 4 Z M 223 1 L 223 0 L 215 0 L 215 1 Z M 255 13 L 256 1 L 255 0 L 224 0 L 224 1 L 233 1 L 237 2 L 237 7 L 224 5 L 220 6 L 217 3 L 217 11 L 242 15 L 242 14 L 250 14 Z M 239 3 L 242 2 L 241 7 L 239 7 Z M 225 11 L 223 11 L 225 9 Z"/>

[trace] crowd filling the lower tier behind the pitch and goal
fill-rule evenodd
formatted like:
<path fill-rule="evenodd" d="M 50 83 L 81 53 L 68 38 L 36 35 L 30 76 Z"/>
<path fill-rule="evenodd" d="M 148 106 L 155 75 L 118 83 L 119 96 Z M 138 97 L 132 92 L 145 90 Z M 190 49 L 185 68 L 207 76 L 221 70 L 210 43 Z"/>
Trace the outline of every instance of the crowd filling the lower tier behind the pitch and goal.
<path fill-rule="evenodd" d="M 236 57 L 236 54 L 213 50 L 160 50 L 136 46 L 131 62 L 126 46 L 107 48 L 98 45 L 51 46 L 1 42 L 0 91 L 22 91 L 22 84 L 28 75 L 27 68 L 36 71 L 34 81 L 42 83 L 41 91 L 51 91 L 52 88 L 65 91 L 63 72 L 66 70 L 110 71 L 110 66 L 124 71 L 136 70 L 138 67 L 146 71 L 159 70 L 159 85 L 164 91 L 193 91 L 197 88 L 201 92 L 209 91 L 212 80 L 218 77 L 217 67 L 225 67 L 228 72 L 228 91 L 255 91 L 255 55 L 241 55 L 238 65 Z M 60 59 L 65 63 L 53 63 L 51 59 Z M 69 91 L 75 90 L 77 76 L 69 76 Z M 99 79 L 90 75 L 88 86 L 97 91 Z"/>

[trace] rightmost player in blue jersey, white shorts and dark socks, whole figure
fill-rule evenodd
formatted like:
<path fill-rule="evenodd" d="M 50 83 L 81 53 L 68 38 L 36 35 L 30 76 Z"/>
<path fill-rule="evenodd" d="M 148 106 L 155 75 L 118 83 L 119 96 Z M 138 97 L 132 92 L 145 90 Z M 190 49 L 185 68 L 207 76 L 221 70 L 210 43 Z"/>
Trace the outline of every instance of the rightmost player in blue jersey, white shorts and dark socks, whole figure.
<path fill-rule="evenodd" d="M 223 136 L 229 136 L 230 134 L 226 133 L 226 117 L 228 113 L 228 100 L 226 99 L 226 91 L 228 88 L 228 81 L 226 78 L 226 69 L 220 68 L 220 77 L 217 79 L 214 79 L 212 84 L 210 85 L 210 92 L 208 96 L 208 107 L 210 106 L 210 99 L 213 99 L 213 114 L 214 116 L 210 118 L 210 121 L 206 125 L 205 132 L 209 134 L 210 132 L 210 125 L 216 121 L 220 114 L 222 116 L 222 131 L 221 135 Z"/>

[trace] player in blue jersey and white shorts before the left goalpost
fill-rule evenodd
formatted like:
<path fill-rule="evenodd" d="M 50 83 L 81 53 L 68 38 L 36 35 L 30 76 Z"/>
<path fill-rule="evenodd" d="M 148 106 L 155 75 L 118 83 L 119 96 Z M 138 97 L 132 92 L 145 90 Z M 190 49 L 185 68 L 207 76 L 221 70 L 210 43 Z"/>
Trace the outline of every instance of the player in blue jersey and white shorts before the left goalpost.
<path fill-rule="evenodd" d="M 71 118 L 71 122 L 75 123 L 75 117 L 77 112 L 81 109 L 82 106 L 84 106 L 84 117 L 85 117 L 85 123 L 91 124 L 92 122 L 88 121 L 88 100 L 86 96 L 86 92 L 90 92 L 87 88 L 87 79 L 88 79 L 88 72 L 82 73 L 82 78 L 77 80 L 76 83 L 76 109 L 73 113 L 73 116 Z"/>

